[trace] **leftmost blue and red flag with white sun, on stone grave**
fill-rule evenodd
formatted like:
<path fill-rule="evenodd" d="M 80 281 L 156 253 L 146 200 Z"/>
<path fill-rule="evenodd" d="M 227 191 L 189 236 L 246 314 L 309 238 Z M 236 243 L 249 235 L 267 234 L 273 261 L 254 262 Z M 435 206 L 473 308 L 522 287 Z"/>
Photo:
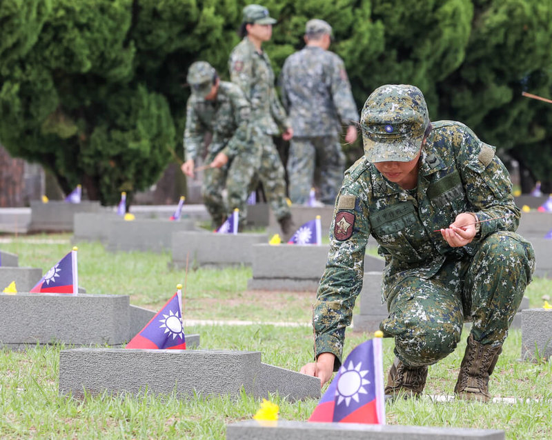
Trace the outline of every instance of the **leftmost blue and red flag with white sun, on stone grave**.
<path fill-rule="evenodd" d="M 48 270 L 46 275 L 30 292 L 77 294 L 79 292 L 77 248 L 73 248 L 71 252 L 59 260 L 59 263 Z"/>

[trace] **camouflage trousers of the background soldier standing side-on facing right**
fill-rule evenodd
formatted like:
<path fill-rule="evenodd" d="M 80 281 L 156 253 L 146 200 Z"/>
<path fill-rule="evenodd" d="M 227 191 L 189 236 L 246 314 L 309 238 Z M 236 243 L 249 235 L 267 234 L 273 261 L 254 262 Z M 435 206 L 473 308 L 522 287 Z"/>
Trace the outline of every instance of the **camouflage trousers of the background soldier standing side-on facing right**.
<path fill-rule="evenodd" d="M 286 180 L 284 166 L 274 146 L 272 135 L 255 130 L 253 140 L 234 157 L 228 170 L 226 189 L 228 191 L 228 212 L 239 209 L 239 222 L 247 217 L 247 198 L 250 188 L 257 179 L 261 181 L 266 199 L 276 219 L 290 214 L 286 201 Z"/>

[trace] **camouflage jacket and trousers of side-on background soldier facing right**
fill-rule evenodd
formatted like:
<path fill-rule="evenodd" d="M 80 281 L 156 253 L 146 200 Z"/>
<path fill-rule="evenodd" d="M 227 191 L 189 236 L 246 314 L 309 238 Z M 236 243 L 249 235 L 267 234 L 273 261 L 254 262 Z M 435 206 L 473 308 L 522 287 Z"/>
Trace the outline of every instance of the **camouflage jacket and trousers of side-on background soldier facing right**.
<path fill-rule="evenodd" d="M 289 123 L 276 96 L 268 55 L 259 54 L 244 37 L 230 54 L 229 68 L 230 79 L 242 88 L 251 104 L 252 135 L 250 151 L 236 157 L 231 166 L 233 172 L 226 183 L 229 208 L 239 208 L 240 220 L 245 218 L 248 186 L 257 173 L 275 217 L 289 217 L 284 166 L 272 139 L 279 128 L 285 130 Z"/>

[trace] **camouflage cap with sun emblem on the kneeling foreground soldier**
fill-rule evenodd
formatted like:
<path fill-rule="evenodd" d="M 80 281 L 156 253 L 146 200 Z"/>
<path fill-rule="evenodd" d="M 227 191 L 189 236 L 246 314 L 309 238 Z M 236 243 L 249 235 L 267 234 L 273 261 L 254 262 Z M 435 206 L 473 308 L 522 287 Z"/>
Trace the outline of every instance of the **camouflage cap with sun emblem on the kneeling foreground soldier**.
<path fill-rule="evenodd" d="M 419 88 L 386 84 L 366 99 L 360 116 L 364 155 L 369 162 L 408 162 L 420 151 L 429 125 Z"/>

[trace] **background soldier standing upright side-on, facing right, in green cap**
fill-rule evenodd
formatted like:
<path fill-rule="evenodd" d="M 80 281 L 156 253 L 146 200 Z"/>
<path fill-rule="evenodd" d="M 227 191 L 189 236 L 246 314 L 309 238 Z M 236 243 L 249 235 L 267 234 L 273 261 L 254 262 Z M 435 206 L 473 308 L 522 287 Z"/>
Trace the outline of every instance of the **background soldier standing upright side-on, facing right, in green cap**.
<path fill-rule="evenodd" d="M 251 104 L 250 154 L 235 158 L 233 176 L 226 183 L 230 209 L 239 208 L 240 223 L 244 221 L 248 187 L 257 174 L 284 238 L 295 232 L 290 209 L 286 202 L 286 181 L 282 160 L 274 146 L 273 135 L 282 130 L 282 139 L 293 137 L 286 112 L 278 101 L 274 86 L 274 72 L 270 59 L 262 50 L 262 43 L 272 37 L 272 25 L 276 20 L 270 17 L 268 9 L 259 5 L 248 5 L 240 34 L 242 41 L 230 54 L 230 79 L 236 83 Z"/>

